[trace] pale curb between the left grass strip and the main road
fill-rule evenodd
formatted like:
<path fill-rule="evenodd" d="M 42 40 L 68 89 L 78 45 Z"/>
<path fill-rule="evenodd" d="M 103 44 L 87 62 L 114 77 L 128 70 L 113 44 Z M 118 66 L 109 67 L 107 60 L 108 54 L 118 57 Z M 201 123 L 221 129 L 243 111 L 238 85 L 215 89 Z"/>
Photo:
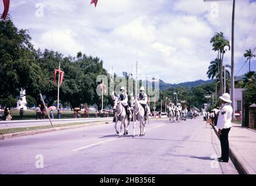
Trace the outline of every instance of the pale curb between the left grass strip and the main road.
<path fill-rule="evenodd" d="M 32 130 L 32 131 L 26 131 L 26 132 L 20 132 L 20 133 L 2 134 L 2 135 L 0 135 L 0 140 L 5 140 L 8 138 L 13 138 L 13 137 L 20 137 L 20 136 L 24 136 L 24 135 L 34 135 L 34 134 L 48 133 L 48 132 L 52 132 L 52 131 L 66 130 L 66 129 L 72 129 L 72 128 L 81 128 L 81 127 L 92 126 L 92 125 L 96 125 L 96 124 L 107 124 L 109 122 L 110 121 L 100 121 L 97 123 L 86 123 L 86 124 L 79 124 L 79 125 L 75 125 L 75 126 L 46 128 L 46 129 L 41 129 L 41 130 Z"/>

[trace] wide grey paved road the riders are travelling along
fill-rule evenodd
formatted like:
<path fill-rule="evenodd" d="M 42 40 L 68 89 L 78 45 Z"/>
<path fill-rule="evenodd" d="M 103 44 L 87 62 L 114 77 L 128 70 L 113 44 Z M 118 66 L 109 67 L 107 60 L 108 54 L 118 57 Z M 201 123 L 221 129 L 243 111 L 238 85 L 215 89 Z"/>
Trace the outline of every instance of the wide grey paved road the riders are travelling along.
<path fill-rule="evenodd" d="M 220 142 L 201 118 L 150 121 L 146 135 L 118 138 L 113 124 L 0 141 L 1 174 L 237 174 L 219 156 Z M 129 129 L 131 131 L 132 127 Z M 37 169 L 36 155 L 44 168 Z"/>

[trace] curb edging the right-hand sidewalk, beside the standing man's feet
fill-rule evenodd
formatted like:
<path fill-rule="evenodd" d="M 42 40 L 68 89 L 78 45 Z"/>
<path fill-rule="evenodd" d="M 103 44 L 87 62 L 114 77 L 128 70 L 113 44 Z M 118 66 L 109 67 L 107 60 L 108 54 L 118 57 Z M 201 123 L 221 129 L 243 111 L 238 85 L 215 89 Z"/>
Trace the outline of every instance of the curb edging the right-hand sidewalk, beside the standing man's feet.
<path fill-rule="evenodd" d="M 214 129 L 215 134 L 219 138 L 218 131 L 217 131 L 216 127 L 213 126 L 212 124 L 211 124 L 211 126 Z M 232 145 L 230 145 L 230 146 L 232 146 Z M 240 174 L 250 174 L 249 171 L 246 169 L 246 167 L 244 167 L 243 163 L 241 163 L 241 160 L 239 160 L 237 155 L 234 153 L 234 150 L 232 148 L 229 148 L 229 158 L 232 160 L 234 166 L 236 167 L 237 171 L 239 171 Z"/>

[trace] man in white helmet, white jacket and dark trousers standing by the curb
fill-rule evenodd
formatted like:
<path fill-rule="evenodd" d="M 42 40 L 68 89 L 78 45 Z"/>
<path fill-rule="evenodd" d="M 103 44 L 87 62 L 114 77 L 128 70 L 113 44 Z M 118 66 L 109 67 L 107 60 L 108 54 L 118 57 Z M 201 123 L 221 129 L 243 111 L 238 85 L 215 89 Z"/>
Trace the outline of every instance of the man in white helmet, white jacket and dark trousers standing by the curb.
<path fill-rule="evenodd" d="M 230 95 L 228 93 L 220 96 L 223 107 L 220 109 L 217 127 L 219 128 L 218 135 L 220 137 L 220 145 L 222 148 L 222 156 L 219 162 L 229 162 L 229 131 L 232 127 L 233 108 L 230 105 Z"/>

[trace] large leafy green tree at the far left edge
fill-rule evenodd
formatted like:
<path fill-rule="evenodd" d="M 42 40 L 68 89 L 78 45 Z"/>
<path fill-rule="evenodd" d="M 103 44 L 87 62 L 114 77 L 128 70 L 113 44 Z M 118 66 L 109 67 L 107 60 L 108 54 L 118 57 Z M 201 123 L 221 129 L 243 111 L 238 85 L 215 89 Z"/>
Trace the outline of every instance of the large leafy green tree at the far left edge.
<path fill-rule="evenodd" d="M 18 30 L 10 19 L 0 21 L 0 98 L 18 96 L 24 88 L 27 95 L 39 99 L 45 76 L 40 73 L 30 41 L 27 30 Z"/>

